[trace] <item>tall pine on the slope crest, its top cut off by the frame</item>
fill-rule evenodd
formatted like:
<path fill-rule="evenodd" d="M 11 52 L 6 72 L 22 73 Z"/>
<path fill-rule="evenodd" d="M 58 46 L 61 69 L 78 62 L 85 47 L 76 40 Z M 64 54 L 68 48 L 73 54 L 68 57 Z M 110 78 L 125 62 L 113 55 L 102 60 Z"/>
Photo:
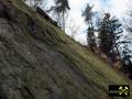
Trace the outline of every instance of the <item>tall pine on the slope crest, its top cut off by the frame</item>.
<path fill-rule="evenodd" d="M 65 31 L 65 21 L 67 12 L 70 10 L 68 0 L 55 0 L 55 7 L 52 7 L 57 14 L 57 23 Z"/>

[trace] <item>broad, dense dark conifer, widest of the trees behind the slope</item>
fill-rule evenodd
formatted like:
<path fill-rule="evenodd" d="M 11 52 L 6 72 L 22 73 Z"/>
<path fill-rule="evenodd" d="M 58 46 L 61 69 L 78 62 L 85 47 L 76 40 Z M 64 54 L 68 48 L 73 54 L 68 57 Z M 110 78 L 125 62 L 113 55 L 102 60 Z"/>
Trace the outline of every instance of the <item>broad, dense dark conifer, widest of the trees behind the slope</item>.
<path fill-rule="evenodd" d="M 120 56 L 119 46 L 120 37 L 122 36 L 122 24 L 119 20 L 110 16 L 110 13 L 106 13 L 99 28 L 99 51 L 108 55 L 110 58 Z"/>

